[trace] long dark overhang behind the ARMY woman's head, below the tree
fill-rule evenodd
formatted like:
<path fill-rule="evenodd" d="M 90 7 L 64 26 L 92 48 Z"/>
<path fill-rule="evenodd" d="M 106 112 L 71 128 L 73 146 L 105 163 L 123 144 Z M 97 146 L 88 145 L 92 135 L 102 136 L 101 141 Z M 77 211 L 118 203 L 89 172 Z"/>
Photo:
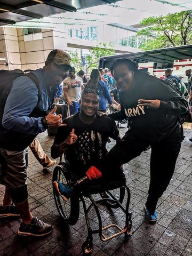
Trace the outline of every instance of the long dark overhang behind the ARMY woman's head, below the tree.
<path fill-rule="evenodd" d="M 169 67 L 169 64 L 173 65 L 174 60 L 192 59 L 192 45 L 103 57 L 100 58 L 100 66 L 110 67 L 112 62 L 123 58 L 130 59 L 136 63 L 155 62 L 161 63 L 162 67 Z"/>

